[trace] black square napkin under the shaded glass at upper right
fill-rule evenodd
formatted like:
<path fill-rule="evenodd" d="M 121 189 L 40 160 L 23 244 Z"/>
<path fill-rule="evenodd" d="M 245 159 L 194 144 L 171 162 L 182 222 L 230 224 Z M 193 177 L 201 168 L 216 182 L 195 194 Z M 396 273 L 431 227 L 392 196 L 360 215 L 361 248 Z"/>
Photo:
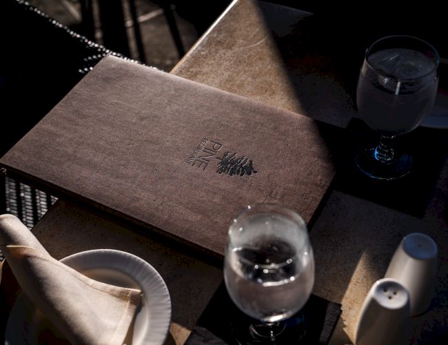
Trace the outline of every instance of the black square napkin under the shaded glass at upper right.
<path fill-rule="evenodd" d="M 334 190 L 414 217 L 425 215 L 447 155 L 447 130 L 418 128 L 398 137 L 397 150 L 412 155 L 414 169 L 402 179 L 381 181 L 364 175 L 355 163 L 356 150 L 366 143 L 374 146 L 378 140 L 378 136 L 363 121 L 352 119 L 346 129 L 326 124 L 318 126 L 336 166 L 332 184 Z"/>

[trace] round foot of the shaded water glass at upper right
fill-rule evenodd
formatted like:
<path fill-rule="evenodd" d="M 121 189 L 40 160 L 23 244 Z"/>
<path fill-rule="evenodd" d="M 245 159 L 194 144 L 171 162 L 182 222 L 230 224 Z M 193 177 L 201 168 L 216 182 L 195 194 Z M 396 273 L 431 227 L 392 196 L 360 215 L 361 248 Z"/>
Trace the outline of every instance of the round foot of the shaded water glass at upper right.
<path fill-rule="evenodd" d="M 393 181 L 411 172 L 413 161 L 409 155 L 396 155 L 388 162 L 380 161 L 376 156 L 376 148 L 360 148 L 356 152 L 356 165 L 368 177 Z"/>

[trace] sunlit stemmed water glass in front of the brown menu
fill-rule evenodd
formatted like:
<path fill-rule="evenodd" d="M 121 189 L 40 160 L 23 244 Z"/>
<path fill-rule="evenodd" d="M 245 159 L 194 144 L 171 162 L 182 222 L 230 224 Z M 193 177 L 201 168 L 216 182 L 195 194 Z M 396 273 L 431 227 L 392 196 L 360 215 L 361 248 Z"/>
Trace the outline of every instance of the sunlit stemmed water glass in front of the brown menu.
<path fill-rule="evenodd" d="M 281 324 L 307 302 L 314 285 L 314 256 L 307 227 L 293 210 L 248 206 L 229 228 L 224 278 L 234 304 L 259 320 L 245 344 L 274 344 Z"/>

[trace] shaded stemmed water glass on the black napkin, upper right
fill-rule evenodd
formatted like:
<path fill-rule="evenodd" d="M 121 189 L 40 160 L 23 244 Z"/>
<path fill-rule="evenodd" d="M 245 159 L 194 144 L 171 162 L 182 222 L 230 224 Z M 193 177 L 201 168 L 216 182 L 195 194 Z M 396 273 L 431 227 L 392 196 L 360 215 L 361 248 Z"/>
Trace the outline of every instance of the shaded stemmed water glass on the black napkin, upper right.
<path fill-rule="evenodd" d="M 394 180 L 411 171 L 412 157 L 396 152 L 394 138 L 414 130 L 431 111 L 439 61 L 436 49 L 416 37 L 384 37 L 367 49 L 356 103 L 380 142 L 358 150 L 356 164 L 369 177 Z"/>

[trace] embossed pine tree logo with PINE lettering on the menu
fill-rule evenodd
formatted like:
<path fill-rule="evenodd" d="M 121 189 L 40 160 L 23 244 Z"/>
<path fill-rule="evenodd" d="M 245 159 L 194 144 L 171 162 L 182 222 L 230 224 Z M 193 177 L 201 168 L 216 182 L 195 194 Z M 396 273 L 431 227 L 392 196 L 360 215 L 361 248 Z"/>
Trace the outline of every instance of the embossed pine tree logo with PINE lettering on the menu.
<path fill-rule="evenodd" d="M 216 173 L 220 175 L 243 176 L 257 173 L 252 159 L 224 150 L 223 144 L 210 139 L 201 141 L 190 155 L 187 164 L 205 170 L 214 165 L 214 161 L 217 161 Z"/>

